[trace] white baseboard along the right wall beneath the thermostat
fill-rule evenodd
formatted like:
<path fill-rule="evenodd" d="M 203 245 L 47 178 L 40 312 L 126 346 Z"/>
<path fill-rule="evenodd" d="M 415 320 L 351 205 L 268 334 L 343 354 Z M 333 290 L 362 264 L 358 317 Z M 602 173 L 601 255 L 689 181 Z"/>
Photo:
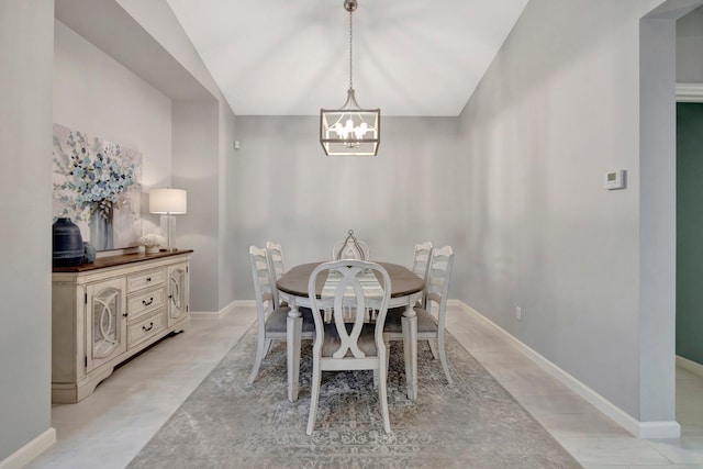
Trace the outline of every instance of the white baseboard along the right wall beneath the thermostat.
<path fill-rule="evenodd" d="M 529 358 L 533 362 L 539 366 L 542 369 L 547 371 L 549 375 L 558 379 L 562 384 L 571 389 L 573 392 L 579 394 L 585 401 L 588 401 L 595 409 L 611 417 L 618 425 L 625 428 L 627 432 L 639 438 L 678 438 L 681 436 L 681 425 L 679 425 L 676 421 L 665 421 L 665 422 L 639 422 L 635 420 L 632 415 L 624 412 L 618 406 L 614 405 L 612 402 L 603 398 L 598 392 L 593 391 L 588 386 L 583 384 L 581 381 L 539 355 L 533 348 L 528 347 L 509 332 L 503 330 L 498 324 L 493 323 L 491 320 L 473 310 L 471 306 L 459 300 L 448 300 L 447 304 L 459 306 L 462 311 L 468 314 L 471 314 L 488 325 L 490 325 L 494 331 L 500 333 L 503 338 L 507 340 L 513 347 L 515 347 L 518 351 L 521 351 L 524 356 Z M 703 368 L 703 367 L 702 367 Z"/>

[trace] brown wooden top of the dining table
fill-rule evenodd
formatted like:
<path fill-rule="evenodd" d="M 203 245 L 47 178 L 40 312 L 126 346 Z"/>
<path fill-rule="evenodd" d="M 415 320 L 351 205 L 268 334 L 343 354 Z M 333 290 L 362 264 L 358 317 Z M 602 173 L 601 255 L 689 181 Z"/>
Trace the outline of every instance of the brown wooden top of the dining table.
<path fill-rule="evenodd" d="M 276 282 L 276 287 L 282 292 L 295 297 L 308 297 L 308 281 L 310 275 L 321 263 L 301 264 L 288 270 Z M 405 297 L 417 293 L 424 287 L 424 281 L 406 267 L 390 263 L 376 263 L 382 266 L 391 278 L 391 298 Z M 315 284 L 317 297 L 322 293 L 326 277 L 319 276 Z"/>

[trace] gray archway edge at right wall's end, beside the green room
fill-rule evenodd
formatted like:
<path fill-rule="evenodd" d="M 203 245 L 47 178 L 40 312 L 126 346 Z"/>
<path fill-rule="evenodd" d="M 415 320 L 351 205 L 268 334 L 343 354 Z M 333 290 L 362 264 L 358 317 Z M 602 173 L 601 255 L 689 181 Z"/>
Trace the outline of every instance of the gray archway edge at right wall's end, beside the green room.
<path fill-rule="evenodd" d="M 703 0 L 667 0 L 639 27 L 639 436 L 676 422 L 676 21 Z"/>

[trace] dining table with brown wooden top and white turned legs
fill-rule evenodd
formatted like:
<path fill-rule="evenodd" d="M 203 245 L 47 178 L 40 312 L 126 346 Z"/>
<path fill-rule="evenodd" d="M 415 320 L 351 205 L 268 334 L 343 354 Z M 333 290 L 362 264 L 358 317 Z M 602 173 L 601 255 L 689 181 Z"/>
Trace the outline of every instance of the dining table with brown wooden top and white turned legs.
<path fill-rule="evenodd" d="M 302 315 L 299 308 L 312 305 L 308 295 L 310 275 L 321 263 L 301 264 L 286 271 L 276 282 L 276 288 L 288 300 L 290 311 L 287 323 L 288 342 L 288 399 L 295 401 L 300 388 L 300 343 L 302 334 Z M 376 263 L 386 269 L 391 279 L 391 299 L 388 308 L 404 306 L 402 317 L 403 349 L 405 354 L 405 378 L 408 398 L 417 397 L 417 317 L 413 305 L 422 297 L 424 280 L 404 266 L 390 263 Z M 325 284 L 324 276 L 317 278 L 315 294 L 322 294 Z M 295 366 L 298 364 L 298 366 Z"/>

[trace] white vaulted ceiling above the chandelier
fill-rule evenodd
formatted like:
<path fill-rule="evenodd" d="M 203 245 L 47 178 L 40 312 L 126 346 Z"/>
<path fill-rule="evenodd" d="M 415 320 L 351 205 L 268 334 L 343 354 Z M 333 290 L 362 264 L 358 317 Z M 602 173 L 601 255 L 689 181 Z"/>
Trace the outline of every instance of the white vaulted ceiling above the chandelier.
<path fill-rule="evenodd" d="M 238 115 L 316 115 L 349 85 L 344 0 L 167 0 Z M 383 115 L 456 116 L 527 0 L 359 0 L 353 82 Z"/>

